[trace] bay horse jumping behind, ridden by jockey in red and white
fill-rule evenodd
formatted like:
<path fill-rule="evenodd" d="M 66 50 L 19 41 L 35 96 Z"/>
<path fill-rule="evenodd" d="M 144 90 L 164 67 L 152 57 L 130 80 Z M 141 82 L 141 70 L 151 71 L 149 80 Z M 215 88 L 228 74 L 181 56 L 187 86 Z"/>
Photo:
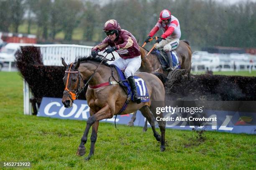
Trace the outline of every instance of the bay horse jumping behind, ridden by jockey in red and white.
<path fill-rule="evenodd" d="M 140 72 L 160 72 L 164 75 L 168 75 L 169 71 L 164 71 L 161 62 L 159 61 L 156 54 L 148 53 L 148 50 L 141 47 L 141 67 L 138 71 Z M 190 71 L 191 71 L 191 59 L 192 59 L 192 51 L 187 40 L 180 40 L 179 46 L 174 50 L 177 53 L 177 57 L 179 59 L 179 63 L 181 65 L 181 69 L 184 69 L 184 74 L 187 74 L 188 79 L 190 79 Z M 147 56 L 146 56 L 147 55 Z M 128 126 L 133 126 L 134 121 L 136 120 L 136 112 L 133 113 L 131 120 L 128 122 Z M 147 120 L 145 121 L 145 125 L 143 131 L 147 130 Z"/>

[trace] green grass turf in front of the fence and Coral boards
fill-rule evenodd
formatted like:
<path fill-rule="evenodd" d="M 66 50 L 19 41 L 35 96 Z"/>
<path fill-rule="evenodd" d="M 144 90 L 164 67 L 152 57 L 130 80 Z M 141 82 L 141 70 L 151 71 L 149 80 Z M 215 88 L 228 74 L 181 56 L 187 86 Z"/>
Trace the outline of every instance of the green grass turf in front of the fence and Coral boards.
<path fill-rule="evenodd" d="M 76 156 L 85 121 L 23 115 L 23 82 L 0 72 L 0 162 L 30 161 L 33 169 L 255 169 L 255 135 L 166 130 L 166 151 L 151 129 L 100 123 L 95 155 Z M 90 147 L 90 133 L 86 154 Z"/>

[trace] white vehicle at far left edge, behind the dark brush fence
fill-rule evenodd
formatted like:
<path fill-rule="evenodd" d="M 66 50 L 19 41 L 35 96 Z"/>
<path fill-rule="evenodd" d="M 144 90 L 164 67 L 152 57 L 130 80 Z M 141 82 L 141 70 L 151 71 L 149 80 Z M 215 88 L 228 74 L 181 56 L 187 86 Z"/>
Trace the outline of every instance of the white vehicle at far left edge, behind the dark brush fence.
<path fill-rule="evenodd" d="M 26 43 L 8 43 L 0 51 L 0 61 L 14 62 L 15 53 L 20 49 L 20 46 L 35 45 Z"/>

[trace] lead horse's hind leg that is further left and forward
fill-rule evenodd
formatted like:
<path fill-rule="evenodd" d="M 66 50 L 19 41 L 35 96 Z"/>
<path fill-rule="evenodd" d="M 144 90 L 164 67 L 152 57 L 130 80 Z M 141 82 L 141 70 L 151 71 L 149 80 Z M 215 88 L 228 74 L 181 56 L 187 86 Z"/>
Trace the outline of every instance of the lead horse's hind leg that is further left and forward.
<path fill-rule="evenodd" d="M 161 135 L 159 135 L 159 133 L 156 132 L 156 127 L 155 127 L 155 119 L 154 119 L 154 116 L 152 115 L 151 113 L 151 110 L 148 106 L 143 106 L 141 109 L 140 109 L 142 115 L 144 117 L 146 117 L 146 119 L 148 120 L 148 122 L 150 123 L 151 125 L 151 128 L 153 130 L 153 133 L 154 133 L 154 137 L 156 138 L 157 141 L 161 141 Z"/>

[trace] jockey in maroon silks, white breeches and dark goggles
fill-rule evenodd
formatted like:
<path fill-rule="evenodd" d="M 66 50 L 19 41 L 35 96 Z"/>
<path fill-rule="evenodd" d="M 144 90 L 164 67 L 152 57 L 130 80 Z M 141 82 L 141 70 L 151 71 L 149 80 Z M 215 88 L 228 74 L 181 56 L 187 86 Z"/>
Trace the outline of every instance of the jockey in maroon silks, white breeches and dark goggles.
<path fill-rule="evenodd" d="M 112 64 L 118 66 L 121 70 L 125 70 L 125 77 L 133 91 L 133 99 L 140 103 L 141 97 L 138 95 L 136 83 L 134 80 L 134 72 L 141 67 L 141 51 L 135 37 L 127 30 L 121 29 L 116 20 L 108 20 L 103 31 L 107 37 L 99 44 L 92 48 L 92 56 L 97 56 L 99 51 L 107 48 L 105 52 L 118 52 L 120 58 L 115 60 Z"/>

